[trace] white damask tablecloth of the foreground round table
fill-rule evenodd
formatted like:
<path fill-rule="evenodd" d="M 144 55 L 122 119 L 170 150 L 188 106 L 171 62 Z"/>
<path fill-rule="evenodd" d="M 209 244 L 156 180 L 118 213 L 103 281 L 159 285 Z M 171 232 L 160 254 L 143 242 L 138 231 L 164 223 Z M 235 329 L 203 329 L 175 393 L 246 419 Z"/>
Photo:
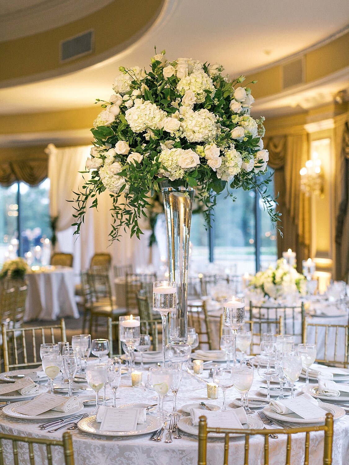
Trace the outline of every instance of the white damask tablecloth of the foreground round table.
<path fill-rule="evenodd" d="M 207 376 L 205 371 L 202 376 Z M 146 379 L 147 372 L 143 372 L 143 380 Z M 180 408 L 184 404 L 190 402 L 209 402 L 221 406 L 222 394 L 219 390 L 217 400 L 207 400 L 206 384 L 198 381 L 194 377 L 186 374 L 183 377 L 182 383 L 177 397 L 177 407 Z M 258 391 L 258 386 L 262 380 L 255 371 L 255 380 L 251 388 L 250 395 Z M 300 383 L 298 383 L 298 386 Z M 301 392 L 300 390 L 297 393 Z M 93 394 L 93 392 L 91 392 Z M 85 394 L 86 395 L 86 394 Z M 111 392 L 107 389 L 107 395 Z M 123 375 L 121 385 L 117 391 L 118 404 L 126 404 L 132 402 L 145 402 L 149 405 L 154 404 L 154 391 L 145 387 L 131 387 L 130 377 Z M 231 407 L 233 399 L 238 397 L 234 388 L 227 391 L 227 405 Z M 172 410 L 172 402 L 164 402 L 167 410 Z M 86 412 L 93 411 L 92 407 L 85 407 Z M 203 411 L 204 413 L 204 411 Z M 254 414 L 256 418 L 257 413 Z M 55 433 L 41 432 L 38 425 L 43 421 L 14 419 L 0 413 L 0 431 L 9 434 L 17 434 L 21 436 L 35 438 L 56 438 L 60 439 L 62 433 L 66 430 L 60 430 Z M 288 424 L 289 426 L 291 424 Z M 295 426 L 295 424 L 293 424 Z M 275 426 L 276 427 L 276 426 Z M 166 464 L 181 464 L 181 465 L 196 465 L 198 438 L 181 432 L 181 439 L 173 439 L 171 444 L 166 444 L 164 438 L 161 442 L 149 441 L 150 433 L 141 436 L 128 438 L 111 438 L 104 436 L 91 435 L 80 430 L 71 432 L 73 436 L 74 457 L 76 465 L 96 465 L 104 463 L 106 465 L 166 465 Z M 299 465 L 303 463 L 305 434 L 298 434 L 292 438 L 292 455 L 291 463 Z M 5 463 L 13 463 L 10 452 L 10 446 L 6 441 L 3 443 L 5 449 Z M 26 446 L 23 446 L 26 447 Z M 210 438 L 208 440 L 208 464 L 223 463 L 223 448 L 224 438 Z M 62 451 L 59 448 L 54 449 L 54 465 L 63 465 L 64 459 Z M 309 465 L 322 465 L 323 451 L 323 432 L 312 432 L 310 436 L 310 461 Z M 40 456 L 42 450 L 38 446 L 36 456 Z M 284 463 L 286 454 L 286 438 L 282 435 L 278 439 L 269 438 L 269 465 L 280 465 Z M 229 446 L 229 463 L 234 465 L 243 464 L 244 454 L 244 439 L 232 438 Z M 29 465 L 29 459 L 20 455 L 20 464 Z M 37 463 L 45 463 L 42 459 Z M 250 438 L 249 464 L 260 465 L 263 463 L 263 439 L 261 437 Z M 344 416 L 337 419 L 334 425 L 333 438 L 333 465 L 348 465 L 349 464 L 349 416 Z"/>

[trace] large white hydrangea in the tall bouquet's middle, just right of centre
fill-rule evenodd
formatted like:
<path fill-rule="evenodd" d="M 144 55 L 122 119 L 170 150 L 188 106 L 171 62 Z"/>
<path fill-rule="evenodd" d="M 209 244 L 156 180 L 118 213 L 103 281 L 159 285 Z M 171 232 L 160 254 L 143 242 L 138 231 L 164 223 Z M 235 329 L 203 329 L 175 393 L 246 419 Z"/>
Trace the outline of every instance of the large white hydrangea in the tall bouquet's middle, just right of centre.
<path fill-rule="evenodd" d="M 189 142 L 212 140 L 220 133 L 220 128 L 216 124 L 217 117 L 214 113 L 210 113 L 207 109 L 195 112 L 188 107 L 186 108 L 182 114 L 181 129 Z"/>

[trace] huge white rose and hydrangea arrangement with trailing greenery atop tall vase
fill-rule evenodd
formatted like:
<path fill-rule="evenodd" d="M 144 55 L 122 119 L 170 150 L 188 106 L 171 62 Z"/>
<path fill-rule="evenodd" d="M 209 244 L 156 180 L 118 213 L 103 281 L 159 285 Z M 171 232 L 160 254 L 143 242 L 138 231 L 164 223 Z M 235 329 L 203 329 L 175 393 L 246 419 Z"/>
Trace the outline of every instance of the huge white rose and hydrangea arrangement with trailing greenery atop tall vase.
<path fill-rule="evenodd" d="M 137 66 L 119 70 L 109 101 L 97 100 L 103 109 L 91 129 L 94 147 L 84 172 L 90 176 L 75 193 L 75 233 L 87 200 L 97 207 L 98 194 L 107 190 L 113 199 L 111 239 L 120 227 L 139 237 L 138 220 L 147 216 L 149 198 L 164 180 L 195 187 L 208 224 L 217 194 L 226 188 L 234 199 L 228 184 L 257 189 L 277 221 L 266 194 L 264 118 L 250 116 L 251 90 L 237 86 L 243 76 L 231 80 L 223 66 L 187 58 L 168 62 L 165 51 L 154 55 L 148 72 Z"/>

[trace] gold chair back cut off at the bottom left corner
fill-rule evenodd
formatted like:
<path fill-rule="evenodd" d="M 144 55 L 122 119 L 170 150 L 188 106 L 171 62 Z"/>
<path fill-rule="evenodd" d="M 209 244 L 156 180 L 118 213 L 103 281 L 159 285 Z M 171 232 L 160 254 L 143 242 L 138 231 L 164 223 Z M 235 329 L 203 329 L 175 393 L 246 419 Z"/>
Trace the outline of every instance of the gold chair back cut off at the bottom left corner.
<path fill-rule="evenodd" d="M 12 442 L 12 454 L 13 461 L 8 462 L 7 458 L 4 457 L 4 452 L 7 452 L 7 448 L 3 441 Z M 20 445 L 19 443 L 26 443 L 28 448 L 26 450 L 25 446 Z M 64 463 L 65 465 L 74 465 L 74 450 L 73 450 L 73 441 L 72 435 L 70 432 L 63 433 L 62 440 L 58 439 L 39 439 L 39 438 L 26 438 L 23 436 L 15 436 L 13 434 L 0 433 L 0 465 L 13 463 L 13 465 L 20 465 L 23 463 L 23 459 L 27 461 L 29 459 L 30 465 L 41 465 L 42 464 L 42 454 L 40 453 L 40 458 L 38 461 L 35 461 L 36 451 L 34 450 L 34 445 L 46 446 L 43 449 L 46 449 L 46 459 L 47 465 L 53 465 L 53 447 L 63 447 L 64 454 Z M 20 447 L 19 447 L 20 446 Z M 9 452 L 11 453 L 11 452 Z M 6 457 L 8 457 L 6 453 Z"/>

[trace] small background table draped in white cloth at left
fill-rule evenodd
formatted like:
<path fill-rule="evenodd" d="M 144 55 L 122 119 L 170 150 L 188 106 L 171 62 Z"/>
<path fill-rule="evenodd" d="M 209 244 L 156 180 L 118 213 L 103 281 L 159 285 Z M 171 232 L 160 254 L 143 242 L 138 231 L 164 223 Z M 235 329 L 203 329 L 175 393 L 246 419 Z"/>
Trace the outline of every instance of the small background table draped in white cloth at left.
<path fill-rule="evenodd" d="M 67 266 L 27 273 L 25 321 L 79 318 L 74 292 L 74 270 Z"/>

